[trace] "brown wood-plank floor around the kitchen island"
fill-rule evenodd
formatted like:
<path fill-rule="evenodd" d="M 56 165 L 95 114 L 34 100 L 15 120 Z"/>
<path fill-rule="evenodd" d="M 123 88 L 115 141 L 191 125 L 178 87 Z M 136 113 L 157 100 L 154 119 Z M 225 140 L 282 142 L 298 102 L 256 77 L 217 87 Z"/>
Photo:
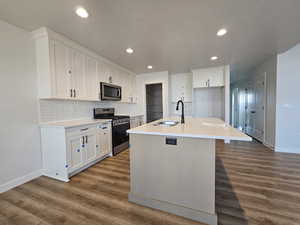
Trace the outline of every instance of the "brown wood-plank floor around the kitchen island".
<path fill-rule="evenodd" d="M 220 225 L 300 224 L 300 155 L 217 143 Z M 127 201 L 128 151 L 74 176 L 38 178 L 0 195 L 0 225 L 200 225 Z"/>

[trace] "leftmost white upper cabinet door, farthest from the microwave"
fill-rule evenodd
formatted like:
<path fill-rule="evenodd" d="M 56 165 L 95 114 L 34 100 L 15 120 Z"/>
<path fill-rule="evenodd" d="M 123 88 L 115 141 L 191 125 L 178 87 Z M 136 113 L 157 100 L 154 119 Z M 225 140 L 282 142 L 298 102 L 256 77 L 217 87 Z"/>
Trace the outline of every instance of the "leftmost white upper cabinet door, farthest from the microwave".
<path fill-rule="evenodd" d="M 54 80 L 55 80 L 55 97 L 71 97 L 71 51 L 64 44 L 54 42 Z"/>

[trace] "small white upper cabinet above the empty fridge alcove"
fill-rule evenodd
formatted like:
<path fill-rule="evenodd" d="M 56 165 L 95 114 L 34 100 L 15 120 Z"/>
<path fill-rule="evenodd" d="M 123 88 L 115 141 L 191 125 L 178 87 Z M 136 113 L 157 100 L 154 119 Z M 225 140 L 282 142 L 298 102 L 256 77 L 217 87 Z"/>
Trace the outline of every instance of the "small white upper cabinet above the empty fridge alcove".
<path fill-rule="evenodd" d="M 224 86 L 224 66 L 193 70 L 193 87 L 222 87 Z"/>

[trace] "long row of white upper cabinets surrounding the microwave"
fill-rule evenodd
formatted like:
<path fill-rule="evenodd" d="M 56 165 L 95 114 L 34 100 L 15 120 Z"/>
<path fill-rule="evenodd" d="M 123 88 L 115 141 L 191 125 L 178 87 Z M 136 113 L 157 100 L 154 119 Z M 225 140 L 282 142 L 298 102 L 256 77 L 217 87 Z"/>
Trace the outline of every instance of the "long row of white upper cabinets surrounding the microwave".
<path fill-rule="evenodd" d="M 135 75 L 47 28 L 36 40 L 39 98 L 100 101 L 100 82 L 122 87 L 122 102 L 135 103 Z"/>

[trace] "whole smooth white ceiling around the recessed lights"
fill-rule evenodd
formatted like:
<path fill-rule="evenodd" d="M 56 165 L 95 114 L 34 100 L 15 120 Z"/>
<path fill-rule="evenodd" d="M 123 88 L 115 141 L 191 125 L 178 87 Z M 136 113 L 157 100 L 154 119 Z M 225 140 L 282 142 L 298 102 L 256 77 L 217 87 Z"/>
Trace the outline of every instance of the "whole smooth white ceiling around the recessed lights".
<path fill-rule="evenodd" d="M 90 17 L 76 16 L 77 6 Z M 136 73 L 148 64 L 247 70 L 300 42 L 299 12 L 300 0 L 0 0 L 0 19 L 29 31 L 47 26 Z M 229 33 L 220 38 L 222 27 Z"/>

